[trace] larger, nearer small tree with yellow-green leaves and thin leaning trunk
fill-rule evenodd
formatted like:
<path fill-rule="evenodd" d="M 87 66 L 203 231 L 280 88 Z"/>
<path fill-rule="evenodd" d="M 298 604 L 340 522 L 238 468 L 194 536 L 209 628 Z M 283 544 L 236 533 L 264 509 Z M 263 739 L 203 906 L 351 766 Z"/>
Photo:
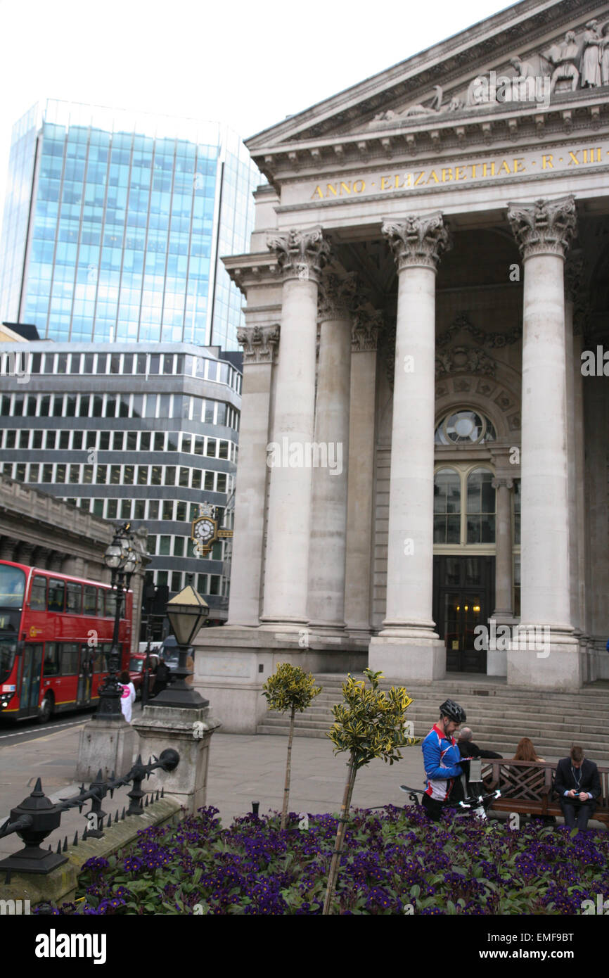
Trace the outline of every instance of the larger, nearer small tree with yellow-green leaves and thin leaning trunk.
<path fill-rule="evenodd" d="M 402 760 L 399 747 L 420 743 L 420 737 L 408 736 L 405 732 L 405 714 L 413 702 L 406 689 L 392 687 L 386 693 L 378 689 L 381 672 L 365 669 L 364 675 L 370 680 L 370 689 L 366 689 L 365 680 L 355 680 L 351 675 L 343 683 L 344 703 L 332 708 L 334 723 L 326 733 L 334 744 L 335 754 L 343 750 L 349 751 L 349 770 L 327 876 L 324 913 L 331 912 L 355 776 L 373 758 L 382 757 L 383 761 L 393 764 L 394 761 Z"/>

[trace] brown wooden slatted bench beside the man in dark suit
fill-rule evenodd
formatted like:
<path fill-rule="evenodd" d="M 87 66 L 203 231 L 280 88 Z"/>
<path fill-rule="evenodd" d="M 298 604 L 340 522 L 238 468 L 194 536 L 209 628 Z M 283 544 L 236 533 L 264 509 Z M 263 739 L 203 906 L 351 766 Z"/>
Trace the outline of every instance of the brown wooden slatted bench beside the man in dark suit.
<path fill-rule="evenodd" d="M 508 761 L 493 759 L 482 762 L 485 789 L 500 789 L 501 797 L 491 808 L 497 812 L 518 812 L 520 815 L 562 815 L 558 796 L 553 789 L 556 761 Z M 609 828 L 609 768 L 598 768 L 600 797 L 592 819 Z"/>

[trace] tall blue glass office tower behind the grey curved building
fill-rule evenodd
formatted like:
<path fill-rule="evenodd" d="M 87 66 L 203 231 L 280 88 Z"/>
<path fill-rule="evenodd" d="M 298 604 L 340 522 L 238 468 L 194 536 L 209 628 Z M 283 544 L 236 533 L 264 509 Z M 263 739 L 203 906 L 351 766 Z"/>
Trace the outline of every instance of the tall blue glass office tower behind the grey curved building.
<path fill-rule="evenodd" d="M 220 259 L 247 250 L 261 179 L 217 123 L 29 111 L 11 147 L 0 319 L 56 342 L 238 349 L 242 300 Z"/>

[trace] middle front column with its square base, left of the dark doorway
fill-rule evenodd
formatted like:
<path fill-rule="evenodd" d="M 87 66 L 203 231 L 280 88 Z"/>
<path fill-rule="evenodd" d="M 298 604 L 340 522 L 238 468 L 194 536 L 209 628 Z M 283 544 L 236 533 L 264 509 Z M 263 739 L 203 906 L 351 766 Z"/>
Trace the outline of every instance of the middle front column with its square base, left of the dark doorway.
<path fill-rule="evenodd" d="M 385 223 L 398 263 L 387 611 L 370 641 L 370 667 L 387 677 L 431 682 L 446 650 L 431 617 L 436 270 L 449 244 L 442 214 Z"/>

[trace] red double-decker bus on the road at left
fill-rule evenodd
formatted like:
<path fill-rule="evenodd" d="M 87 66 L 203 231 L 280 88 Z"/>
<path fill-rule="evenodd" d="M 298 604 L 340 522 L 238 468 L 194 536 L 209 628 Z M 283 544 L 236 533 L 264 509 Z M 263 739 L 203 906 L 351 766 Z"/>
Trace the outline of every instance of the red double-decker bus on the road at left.
<path fill-rule="evenodd" d="M 99 700 L 108 675 L 116 594 L 108 584 L 0 560 L 0 716 L 46 723 Z M 118 632 L 127 669 L 133 594 Z"/>

